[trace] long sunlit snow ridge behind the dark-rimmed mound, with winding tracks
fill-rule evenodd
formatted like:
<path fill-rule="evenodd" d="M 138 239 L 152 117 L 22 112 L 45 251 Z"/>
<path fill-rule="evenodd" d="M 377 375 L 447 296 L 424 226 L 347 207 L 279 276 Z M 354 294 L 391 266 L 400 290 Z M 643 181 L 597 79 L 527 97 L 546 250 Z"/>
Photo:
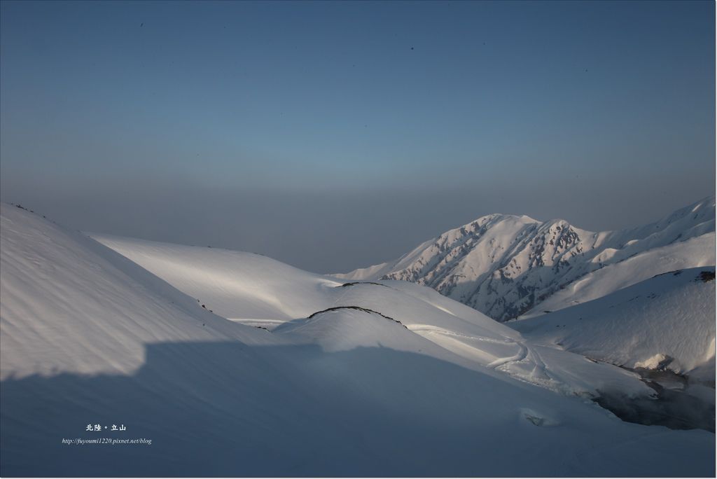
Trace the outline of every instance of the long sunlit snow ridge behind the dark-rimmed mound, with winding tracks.
<path fill-rule="evenodd" d="M 99 234 L 93 237 L 238 323 L 280 332 L 285 331 L 277 328 L 282 322 L 306 321 L 318 311 L 357 306 L 398 321 L 441 346 L 431 349 L 433 356 L 448 361 L 453 355 L 469 359 L 468 367 L 489 367 L 565 394 L 590 397 L 605 389 L 650 393 L 635 376 L 581 356 L 563 354 L 567 362 L 546 366 L 536 348 L 512 328 L 422 286 L 400 281 L 346 284 L 262 255 Z M 446 351 L 453 355 L 446 356 Z"/>

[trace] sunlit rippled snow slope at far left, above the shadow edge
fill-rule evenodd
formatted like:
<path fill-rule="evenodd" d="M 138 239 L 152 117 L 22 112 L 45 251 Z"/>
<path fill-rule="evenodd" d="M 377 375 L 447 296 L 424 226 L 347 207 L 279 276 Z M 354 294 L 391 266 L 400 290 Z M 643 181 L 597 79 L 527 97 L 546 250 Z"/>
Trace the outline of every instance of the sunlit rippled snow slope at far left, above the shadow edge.
<path fill-rule="evenodd" d="M 6 204 L 1 213 L 0 379 L 131 374 L 147 343 L 255 333 L 80 233 Z"/>

